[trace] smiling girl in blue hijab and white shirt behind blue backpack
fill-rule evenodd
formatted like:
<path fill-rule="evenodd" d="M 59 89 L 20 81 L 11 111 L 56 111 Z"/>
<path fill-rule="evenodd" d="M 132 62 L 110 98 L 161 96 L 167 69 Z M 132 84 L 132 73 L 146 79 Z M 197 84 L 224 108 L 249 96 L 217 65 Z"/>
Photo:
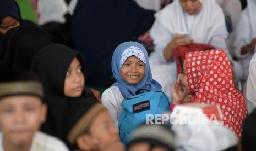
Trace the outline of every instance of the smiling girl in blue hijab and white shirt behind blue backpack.
<path fill-rule="evenodd" d="M 117 127 L 124 99 L 140 89 L 161 91 L 161 85 L 152 79 L 148 53 L 137 42 L 118 45 L 112 56 L 112 72 L 117 82 L 102 93 L 101 99 Z"/>

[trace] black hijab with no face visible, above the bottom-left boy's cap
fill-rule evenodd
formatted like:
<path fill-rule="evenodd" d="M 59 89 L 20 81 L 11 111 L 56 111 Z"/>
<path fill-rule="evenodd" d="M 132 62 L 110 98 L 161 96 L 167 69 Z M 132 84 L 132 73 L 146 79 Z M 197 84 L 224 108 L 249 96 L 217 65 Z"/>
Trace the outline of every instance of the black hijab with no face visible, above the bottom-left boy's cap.
<path fill-rule="evenodd" d="M 55 37 L 34 25 L 20 25 L 7 31 L 0 52 L 1 71 L 29 71 L 38 51 Z"/>

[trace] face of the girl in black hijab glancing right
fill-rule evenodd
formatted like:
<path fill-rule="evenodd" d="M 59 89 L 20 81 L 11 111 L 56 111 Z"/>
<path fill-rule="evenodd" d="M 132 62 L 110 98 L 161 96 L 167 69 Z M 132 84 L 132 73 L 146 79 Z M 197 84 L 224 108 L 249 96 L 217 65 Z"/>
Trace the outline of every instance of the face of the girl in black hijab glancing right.
<path fill-rule="evenodd" d="M 68 97 L 79 97 L 84 89 L 84 74 L 77 57 L 71 62 L 64 84 L 64 95 Z"/>

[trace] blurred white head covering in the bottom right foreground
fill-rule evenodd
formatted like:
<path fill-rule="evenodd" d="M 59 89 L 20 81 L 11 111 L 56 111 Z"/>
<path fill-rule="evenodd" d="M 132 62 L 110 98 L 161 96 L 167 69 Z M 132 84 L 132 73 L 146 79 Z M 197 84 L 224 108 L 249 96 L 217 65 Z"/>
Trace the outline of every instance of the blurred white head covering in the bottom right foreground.
<path fill-rule="evenodd" d="M 208 1 L 208 0 L 207 0 Z M 221 123 L 172 125 L 178 151 L 225 150 L 237 144 L 235 133 Z"/>

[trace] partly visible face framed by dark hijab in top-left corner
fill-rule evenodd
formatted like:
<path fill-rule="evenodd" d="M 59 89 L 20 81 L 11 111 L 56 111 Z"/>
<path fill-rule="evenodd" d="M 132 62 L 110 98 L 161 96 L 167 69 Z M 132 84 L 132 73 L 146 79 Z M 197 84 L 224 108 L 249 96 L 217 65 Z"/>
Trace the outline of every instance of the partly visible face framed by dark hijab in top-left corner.
<path fill-rule="evenodd" d="M 7 16 L 2 20 L 0 24 L 0 32 L 2 34 L 6 34 L 8 30 L 10 30 L 11 28 L 17 27 L 19 25 L 20 25 L 20 22 L 17 19 L 11 16 Z"/>

